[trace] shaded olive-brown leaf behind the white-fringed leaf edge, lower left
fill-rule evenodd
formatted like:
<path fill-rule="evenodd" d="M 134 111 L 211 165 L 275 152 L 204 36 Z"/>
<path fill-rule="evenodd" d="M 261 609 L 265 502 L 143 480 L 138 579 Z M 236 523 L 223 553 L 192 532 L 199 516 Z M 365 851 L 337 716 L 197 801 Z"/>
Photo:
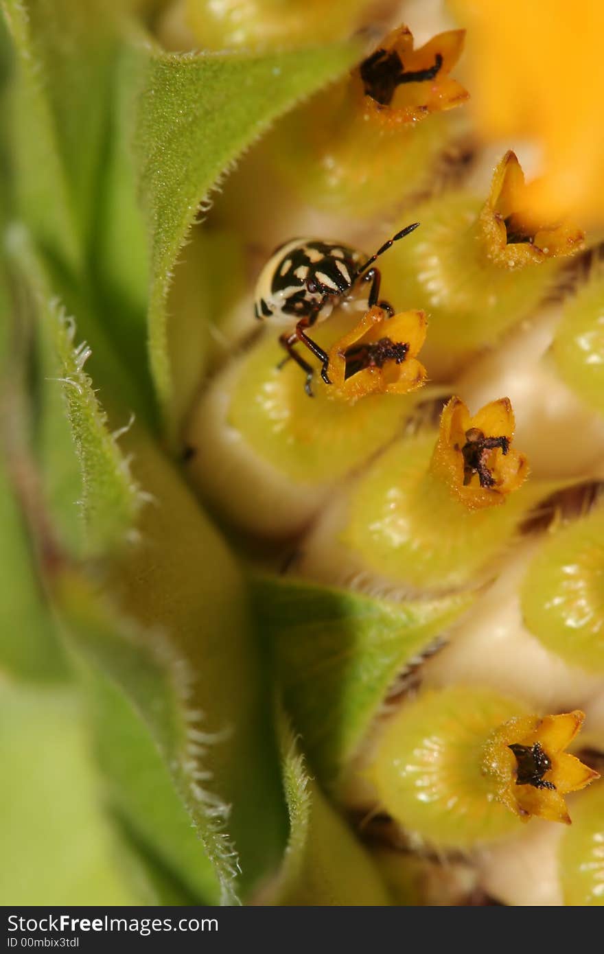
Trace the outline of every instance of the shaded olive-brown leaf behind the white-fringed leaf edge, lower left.
<path fill-rule="evenodd" d="M 239 569 L 223 541 L 156 446 L 139 427 L 125 435 L 141 487 L 156 503 L 141 511 L 141 544 L 124 552 L 107 580 L 121 612 L 159 629 L 196 676 L 190 706 L 211 746 L 212 791 L 232 806 L 228 832 L 248 891 L 281 855 L 285 819 L 266 666 L 248 621 Z"/>

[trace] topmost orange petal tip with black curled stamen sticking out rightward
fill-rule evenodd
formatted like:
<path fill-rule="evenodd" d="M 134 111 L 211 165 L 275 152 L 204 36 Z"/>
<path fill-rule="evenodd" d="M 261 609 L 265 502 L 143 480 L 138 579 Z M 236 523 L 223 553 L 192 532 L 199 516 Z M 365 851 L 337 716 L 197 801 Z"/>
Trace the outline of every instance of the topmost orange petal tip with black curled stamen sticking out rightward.
<path fill-rule="evenodd" d="M 364 95 L 365 113 L 385 124 L 404 124 L 463 103 L 469 93 L 449 73 L 461 55 L 465 35 L 465 30 L 438 33 L 414 50 L 407 27 L 389 33 L 353 73 L 357 90 Z"/>

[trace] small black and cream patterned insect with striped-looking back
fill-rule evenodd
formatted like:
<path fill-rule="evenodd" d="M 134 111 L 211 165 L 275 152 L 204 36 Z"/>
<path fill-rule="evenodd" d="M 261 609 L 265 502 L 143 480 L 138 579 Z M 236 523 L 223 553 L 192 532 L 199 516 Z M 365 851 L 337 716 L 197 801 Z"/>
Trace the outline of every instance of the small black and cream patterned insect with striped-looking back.
<path fill-rule="evenodd" d="M 407 225 L 401 232 L 388 239 L 375 255 L 367 258 L 363 252 L 339 242 L 318 239 L 291 239 L 281 245 L 264 265 L 256 286 L 254 311 L 260 321 L 291 325 L 293 331 L 284 331 L 280 336 L 281 346 L 288 358 L 302 367 L 306 375 L 304 390 L 312 397 L 314 370 L 295 350 L 303 344 L 321 362 L 321 377 L 329 380 L 329 357 L 317 342 L 306 334 L 306 329 L 329 317 L 333 307 L 352 297 L 358 282 L 369 283 L 367 307 L 379 304 L 389 315 L 394 314 L 392 305 L 378 301 L 381 275 L 373 263 L 399 239 L 404 239 L 418 227 L 419 222 Z M 281 365 L 280 365 L 281 366 Z"/>

